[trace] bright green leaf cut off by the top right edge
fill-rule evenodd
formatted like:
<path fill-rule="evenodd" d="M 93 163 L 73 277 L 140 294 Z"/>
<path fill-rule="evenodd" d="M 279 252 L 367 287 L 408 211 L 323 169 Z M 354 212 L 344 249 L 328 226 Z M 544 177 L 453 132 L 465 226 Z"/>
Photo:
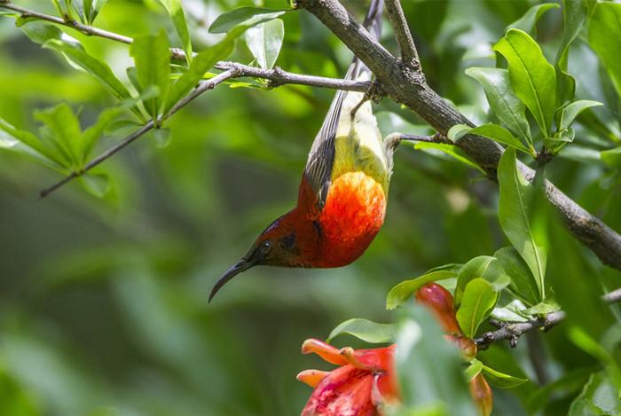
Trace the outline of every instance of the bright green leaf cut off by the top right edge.
<path fill-rule="evenodd" d="M 589 44 L 600 56 L 621 94 L 621 4 L 598 3 L 589 22 Z"/>

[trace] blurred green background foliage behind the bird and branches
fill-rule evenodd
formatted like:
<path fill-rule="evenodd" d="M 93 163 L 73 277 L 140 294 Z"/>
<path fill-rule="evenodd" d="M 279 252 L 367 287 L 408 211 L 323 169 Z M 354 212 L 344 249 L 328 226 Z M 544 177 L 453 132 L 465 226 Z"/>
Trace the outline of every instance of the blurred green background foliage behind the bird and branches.
<path fill-rule="evenodd" d="M 55 13 L 51 2 L 16 3 Z M 362 0 L 343 3 L 358 15 L 366 7 Z M 493 66 L 490 44 L 531 3 L 404 2 L 428 82 L 476 122 L 485 118 L 485 99 L 463 69 Z M 183 4 L 196 51 L 219 39 L 207 28 L 222 12 L 286 6 L 281 0 Z M 325 27 L 307 12 L 283 20 L 277 65 L 303 74 L 344 74 L 350 52 Z M 130 36 L 167 27 L 176 39 L 153 0 L 110 0 L 96 26 Z M 396 51 L 385 26 L 382 43 Z M 559 33 L 560 12 L 546 14 L 539 40 L 554 43 Z M 125 45 L 74 35 L 126 79 L 131 61 Z M 583 56 L 578 72 L 589 74 L 593 52 Z M 241 39 L 232 60 L 252 60 Z M 12 19 L 0 19 L 0 62 L 0 116 L 22 129 L 35 129 L 36 108 L 65 101 L 80 109 L 88 126 L 114 104 L 96 80 L 29 41 Z M 581 74 L 574 75 L 578 88 L 585 87 Z M 60 177 L 18 153 L 2 153 L 0 414 L 299 413 L 311 389 L 295 374 L 326 368 L 299 353 L 303 340 L 325 338 L 347 318 L 389 322 L 384 297 L 391 286 L 439 264 L 491 255 L 505 244 L 495 184 L 454 161 L 403 146 L 386 224 L 356 263 L 338 270 L 255 268 L 208 304 L 220 273 L 293 207 L 333 94 L 299 86 L 209 91 L 169 121 L 166 148 L 142 137 L 98 168 L 114 183 L 103 200 L 78 181 L 40 200 L 37 192 Z M 384 134 L 428 131 L 389 100 L 375 110 Z M 98 151 L 120 138 L 106 137 Z M 610 186 L 618 190 L 616 176 L 570 159 L 555 163 L 550 174 L 572 197 L 599 207 L 596 214 L 619 231 L 621 220 L 612 214 L 618 196 L 610 192 Z M 609 203 L 600 204 L 602 194 Z M 345 338 L 336 344 L 362 345 Z M 516 354 L 525 356 L 522 345 Z M 575 359 L 561 355 L 554 365 Z M 523 414 L 511 397 L 497 393 L 496 414 Z"/>

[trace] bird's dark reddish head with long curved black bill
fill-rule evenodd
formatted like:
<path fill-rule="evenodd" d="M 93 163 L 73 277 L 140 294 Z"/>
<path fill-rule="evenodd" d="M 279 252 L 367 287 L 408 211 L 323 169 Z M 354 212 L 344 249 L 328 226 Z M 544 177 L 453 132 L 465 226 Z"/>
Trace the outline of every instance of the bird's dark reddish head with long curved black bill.
<path fill-rule="evenodd" d="M 270 224 L 255 243 L 250 247 L 248 253 L 241 257 L 241 260 L 232 265 L 225 271 L 222 277 L 216 282 L 211 290 L 209 302 L 216 293 L 229 280 L 257 265 L 281 266 L 281 267 L 306 267 L 309 257 L 309 247 L 316 245 L 309 244 L 307 229 L 308 220 L 300 219 L 295 210 L 284 216 L 280 216 Z M 312 227 L 311 227 L 312 228 Z"/>

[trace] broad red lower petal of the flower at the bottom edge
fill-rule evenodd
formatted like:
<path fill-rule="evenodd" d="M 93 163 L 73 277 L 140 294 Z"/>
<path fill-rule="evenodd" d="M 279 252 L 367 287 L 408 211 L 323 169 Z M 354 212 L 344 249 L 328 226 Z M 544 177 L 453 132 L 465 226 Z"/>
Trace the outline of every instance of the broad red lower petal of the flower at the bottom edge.
<path fill-rule="evenodd" d="M 373 373 L 343 365 L 318 384 L 302 416 L 373 416 L 372 387 Z"/>

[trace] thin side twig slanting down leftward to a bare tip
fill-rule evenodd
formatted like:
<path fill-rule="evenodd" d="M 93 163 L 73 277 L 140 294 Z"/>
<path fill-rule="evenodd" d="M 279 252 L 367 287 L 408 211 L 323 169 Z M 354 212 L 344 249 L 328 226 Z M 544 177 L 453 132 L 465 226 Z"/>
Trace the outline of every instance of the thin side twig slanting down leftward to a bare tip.
<path fill-rule="evenodd" d="M 158 121 L 158 125 L 161 125 L 161 122 L 163 122 L 164 120 L 168 119 L 172 114 L 177 113 L 177 111 L 179 111 L 182 107 L 187 105 L 194 98 L 197 98 L 198 96 L 200 96 L 200 94 L 202 94 L 203 92 L 205 92 L 207 90 L 213 90 L 216 87 L 217 84 L 219 84 L 221 82 L 224 82 L 224 81 L 226 81 L 226 80 L 228 80 L 230 78 L 233 78 L 235 76 L 239 76 L 238 70 L 236 68 L 231 68 L 231 69 L 229 69 L 227 71 L 224 71 L 222 74 L 216 75 L 215 77 L 211 78 L 208 81 L 200 82 L 199 86 L 196 87 L 187 96 L 185 96 L 185 98 L 180 100 L 177 103 L 177 105 L 173 106 L 170 109 L 168 114 L 160 116 L 160 120 Z M 70 175 L 68 175 L 67 177 L 64 177 L 57 184 L 53 184 L 50 187 L 43 189 L 43 191 L 41 191 L 39 193 L 39 195 L 41 196 L 41 198 L 44 198 L 47 195 L 49 195 L 51 192 L 54 192 L 57 189 L 59 189 L 59 187 L 61 187 L 62 185 L 67 184 L 72 179 L 75 179 L 76 177 L 83 176 L 90 169 L 93 169 L 99 163 L 101 163 L 103 161 L 106 161 L 107 159 L 112 157 L 115 153 L 118 153 L 120 150 L 122 150 L 122 148 L 124 148 L 126 145 L 129 145 L 131 142 L 136 140 L 138 137 L 142 137 L 146 132 L 148 132 L 150 130 L 153 130 L 154 127 L 155 127 L 155 123 L 153 123 L 153 120 L 150 121 L 150 122 L 147 122 L 139 130 L 136 130 L 133 133 L 131 133 L 130 136 L 123 138 L 119 143 L 117 143 L 116 145 L 114 145 L 114 146 L 110 147 L 108 150 L 106 150 L 106 152 L 99 154 L 98 157 L 96 157 L 95 159 L 90 161 L 86 166 L 84 166 L 84 169 L 82 169 L 80 171 L 77 171 L 77 172 L 72 172 Z"/>

